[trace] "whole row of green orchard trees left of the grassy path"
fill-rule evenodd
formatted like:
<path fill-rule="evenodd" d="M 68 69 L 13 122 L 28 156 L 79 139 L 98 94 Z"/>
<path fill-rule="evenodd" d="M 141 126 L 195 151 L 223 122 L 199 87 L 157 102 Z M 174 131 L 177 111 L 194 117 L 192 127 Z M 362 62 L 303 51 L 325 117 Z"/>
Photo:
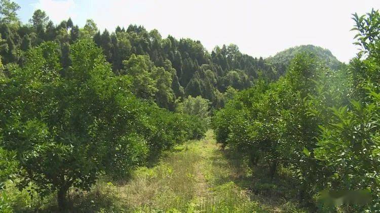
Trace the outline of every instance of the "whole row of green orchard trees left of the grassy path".
<path fill-rule="evenodd" d="M 60 57 L 59 44 L 44 42 L 25 53 L 22 66 L 0 70 L 2 181 L 42 196 L 56 191 L 63 209 L 70 187 L 89 190 L 102 174 L 125 177 L 150 156 L 203 137 L 197 117 L 137 98 L 130 87 L 140 79 L 115 75 L 92 40 L 71 45 L 67 69 Z"/>

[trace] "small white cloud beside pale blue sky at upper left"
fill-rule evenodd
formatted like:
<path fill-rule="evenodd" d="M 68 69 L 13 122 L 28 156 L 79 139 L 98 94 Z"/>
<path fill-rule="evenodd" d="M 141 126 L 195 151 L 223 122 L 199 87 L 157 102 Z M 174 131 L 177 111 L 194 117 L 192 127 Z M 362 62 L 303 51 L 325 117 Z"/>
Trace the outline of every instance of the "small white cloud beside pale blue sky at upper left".
<path fill-rule="evenodd" d="M 75 18 L 75 3 L 73 0 L 39 0 L 32 4 L 34 9 L 45 11 L 54 23 L 59 23 L 62 20 L 67 20 L 69 17 Z"/>

